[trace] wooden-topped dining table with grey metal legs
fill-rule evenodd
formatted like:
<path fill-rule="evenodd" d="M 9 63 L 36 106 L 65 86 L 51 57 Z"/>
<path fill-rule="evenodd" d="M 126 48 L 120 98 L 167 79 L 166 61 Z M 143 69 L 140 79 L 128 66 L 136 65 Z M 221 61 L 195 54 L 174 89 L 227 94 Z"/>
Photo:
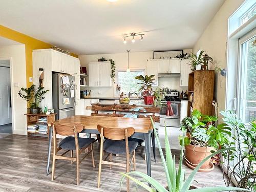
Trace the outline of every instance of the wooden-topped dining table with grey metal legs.
<path fill-rule="evenodd" d="M 80 123 L 84 127 L 84 130 L 82 131 L 82 133 L 90 133 L 90 134 L 99 134 L 97 130 L 98 124 L 106 127 L 113 127 L 113 128 L 134 127 L 135 133 L 131 137 L 144 140 L 147 175 L 151 176 L 151 133 L 153 131 L 153 126 L 150 119 L 75 115 L 75 116 L 54 121 L 54 123 L 70 125 L 70 126 Z M 49 147 L 48 147 L 48 162 L 47 162 L 46 175 L 49 175 L 51 144 L 52 144 L 52 127 L 50 127 L 49 129 Z"/>

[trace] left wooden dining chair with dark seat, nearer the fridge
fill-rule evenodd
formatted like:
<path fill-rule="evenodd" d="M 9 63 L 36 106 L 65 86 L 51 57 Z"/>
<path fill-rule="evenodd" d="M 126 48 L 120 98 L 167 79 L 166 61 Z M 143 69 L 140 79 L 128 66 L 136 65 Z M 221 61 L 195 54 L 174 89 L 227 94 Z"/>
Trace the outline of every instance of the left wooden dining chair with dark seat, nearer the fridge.
<path fill-rule="evenodd" d="M 95 167 L 94 163 L 94 154 L 93 154 L 93 138 L 81 138 L 78 137 L 78 133 L 80 133 L 83 130 L 82 124 L 75 124 L 72 126 L 62 125 L 62 124 L 54 124 L 51 123 L 51 126 L 53 128 L 53 161 L 52 161 L 52 181 L 54 180 L 54 172 L 55 172 L 55 161 L 57 159 L 65 159 L 70 160 L 71 164 L 76 162 L 76 182 L 77 185 L 79 185 L 79 165 L 81 161 L 88 155 L 92 154 L 92 164 L 93 167 Z M 62 135 L 62 136 L 68 136 L 64 139 L 62 139 L 58 146 L 57 146 L 57 139 L 56 134 Z M 90 147 L 89 152 L 85 152 L 85 156 L 80 159 L 80 154 L 84 152 L 87 148 Z M 61 155 L 57 155 L 57 152 L 61 149 L 66 150 Z M 76 157 L 73 156 L 73 150 L 75 150 Z M 64 156 L 68 152 L 71 152 L 71 156 L 67 157 Z"/>

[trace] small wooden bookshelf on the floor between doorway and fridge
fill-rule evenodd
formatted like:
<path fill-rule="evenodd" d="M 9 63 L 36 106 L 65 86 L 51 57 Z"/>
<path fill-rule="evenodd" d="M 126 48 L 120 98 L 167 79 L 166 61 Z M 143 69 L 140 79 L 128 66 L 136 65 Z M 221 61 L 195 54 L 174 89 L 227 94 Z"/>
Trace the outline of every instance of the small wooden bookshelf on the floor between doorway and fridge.
<path fill-rule="evenodd" d="M 39 132 L 30 132 L 28 131 L 27 129 L 27 133 L 28 133 L 28 136 L 30 135 L 36 135 L 36 136 L 44 136 L 44 135 L 47 135 L 47 137 L 49 138 L 49 124 L 53 121 L 55 121 L 55 115 L 56 113 L 53 113 L 53 114 L 50 114 L 50 115 L 46 115 L 46 114 L 25 114 L 27 116 L 27 126 L 28 125 L 31 125 L 31 124 L 35 124 L 35 123 L 40 123 L 40 124 L 45 124 L 47 125 L 47 133 L 46 134 L 41 134 Z M 47 121 L 44 121 L 44 122 L 40 122 L 39 120 L 41 118 L 46 118 Z"/>

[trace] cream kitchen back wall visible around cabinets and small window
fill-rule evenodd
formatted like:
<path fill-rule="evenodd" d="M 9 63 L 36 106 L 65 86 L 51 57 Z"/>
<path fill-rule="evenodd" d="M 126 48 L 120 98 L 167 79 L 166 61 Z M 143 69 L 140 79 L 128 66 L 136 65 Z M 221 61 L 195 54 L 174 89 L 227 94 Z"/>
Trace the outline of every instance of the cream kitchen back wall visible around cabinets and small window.
<path fill-rule="evenodd" d="M 190 53 L 191 49 L 184 49 L 183 53 Z M 105 59 L 113 59 L 115 61 L 116 70 L 118 69 L 126 69 L 127 68 L 127 53 L 114 53 L 114 54 L 97 54 L 97 55 L 79 55 L 80 64 L 82 67 L 87 67 L 88 71 L 88 63 L 92 61 L 97 61 L 99 58 L 104 57 Z M 146 69 L 147 59 L 153 58 L 153 51 L 147 52 L 130 52 L 129 53 L 129 67 Z M 169 81 L 169 83 L 168 83 Z M 163 78 L 161 79 L 162 84 L 166 87 L 170 87 L 172 89 L 180 88 L 180 80 L 179 78 Z M 178 82 L 178 83 L 176 83 Z M 116 85 L 115 85 L 116 86 Z M 174 88 L 176 86 L 176 88 Z M 114 96 L 114 88 L 88 88 L 92 90 L 91 96 L 95 97 L 113 97 Z M 185 90 L 185 89 L 182 89 Z"/>

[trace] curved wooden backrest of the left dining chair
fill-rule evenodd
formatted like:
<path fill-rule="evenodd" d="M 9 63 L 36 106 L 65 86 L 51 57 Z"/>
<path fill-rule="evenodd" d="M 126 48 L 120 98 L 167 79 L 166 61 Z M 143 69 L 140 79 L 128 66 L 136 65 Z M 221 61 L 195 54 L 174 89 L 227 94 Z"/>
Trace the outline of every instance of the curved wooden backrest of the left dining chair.
<path fill-rule="evenodd" d="M 63 125 L 51 122 L 51 126 L 53 127 L 55 134 L 62 136 L 74 135 L 75 133 L 80 133 L 83 130 L 82 124 Z"/>

